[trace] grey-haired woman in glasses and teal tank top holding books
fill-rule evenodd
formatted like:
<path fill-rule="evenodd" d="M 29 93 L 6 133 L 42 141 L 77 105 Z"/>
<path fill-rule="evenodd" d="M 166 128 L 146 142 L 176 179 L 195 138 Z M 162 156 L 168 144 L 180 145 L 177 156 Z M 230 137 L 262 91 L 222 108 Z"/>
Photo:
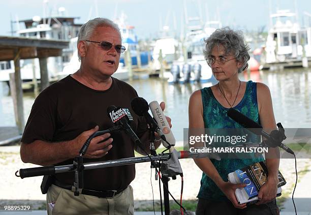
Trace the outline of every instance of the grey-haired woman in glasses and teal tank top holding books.
<path fill-rule="evenodd" d="M 247 69 L 247 60 L 250 59 L 247 52 L 249 48 L 244 44 L 242 33 L 228 27 L 217 29 L 205 42 L 205 59 L 219 83 L 191 95 L 189 128 L 241 128 L 227 116 L 228 109 L 234 108 L 260 123 L 265 131 L 275 129 L 268 86 L 239 80 L 238 73 Z M 277 149 L 269 150 L 269 153 L 272 152 L 276 153 Z M 269 176 L 259 191 L 260 201 L 257 204 L 247 207 L 246 204 L 239 204 L 234 191 L 245 185 L 227 182 L 228 173 L 263 160 L 262 156 L 220 161 L 195 159 L 203 171 L 197 214 L 277 214 L 275 197 L 279 159 L 266 159 Z"/>

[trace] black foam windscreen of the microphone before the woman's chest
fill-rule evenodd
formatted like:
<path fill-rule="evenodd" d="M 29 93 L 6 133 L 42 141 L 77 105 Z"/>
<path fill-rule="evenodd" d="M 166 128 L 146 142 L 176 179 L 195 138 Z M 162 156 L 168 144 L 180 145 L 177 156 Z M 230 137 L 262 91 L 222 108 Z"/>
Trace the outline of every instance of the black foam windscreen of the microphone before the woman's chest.
<path fill-rule="evenodd" d="M 236 121 L 238 124 L 243 126 L 245 129 L 250 130 L 254 134 L 261 135 L 262 126 L 247 116 L 243 115 L 239 111 L 230 108 L 227 112 L 227 115 Z"/>

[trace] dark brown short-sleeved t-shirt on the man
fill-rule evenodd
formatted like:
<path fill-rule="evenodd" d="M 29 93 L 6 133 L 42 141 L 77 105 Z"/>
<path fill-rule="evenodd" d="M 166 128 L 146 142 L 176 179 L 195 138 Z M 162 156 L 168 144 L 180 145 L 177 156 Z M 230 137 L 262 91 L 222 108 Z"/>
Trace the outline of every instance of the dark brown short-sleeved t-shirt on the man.
<path fill-rule="evenodd" d="M 99 126 L 106 130 L 114 126 L 107 114 L 111 105 L 128 108 L 134 117 L 133 131 L 140 137 L 147 131 L 147 124 L 131 108 L 136 90 L 126 82 L 112 78 L 109 89 L 91 89 L 71 76 L 50 85 L 36 98 L 30 112 L 21 142 L 43 140 L 51 144 L 76 138 L 82 132 Z M 84 163 L 134 157 L 134 142 L 124 132 L 112 134 L 113 147 L 100 159 L 84 159 Z M 67 160 L 58 165 L 73 164 Z M 74 173 L 55 175 L 57 180 L 73 185 Z M 135 165 L 91 169 L 84 171 L 84 188 L 90 190 L 125 189 L 135 178 Z"/>

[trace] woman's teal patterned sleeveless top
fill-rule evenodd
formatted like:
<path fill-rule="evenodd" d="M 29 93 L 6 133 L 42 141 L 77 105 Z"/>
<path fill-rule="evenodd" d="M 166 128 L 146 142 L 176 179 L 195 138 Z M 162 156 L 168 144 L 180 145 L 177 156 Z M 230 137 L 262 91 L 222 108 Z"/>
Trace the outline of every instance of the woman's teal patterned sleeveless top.
<path fill-rule="evenodd" d="M 242 128 L 237 122 L 232 120 L 227 116 L 228 108 L 223 107 L 214 97 L 210 87 L 205 87 L 201 89 L 202 103 L 203 103 L 203 119 L 204 127 L 210 129 L 221 129 L 221 128 Z M 258 122 L 258 103 L 257 103 L 257 88 L 256 82 L 248 81 L 246 83 L 246 90 L 241 102 L 234 107 L 248 118 Z M 248 136 L 248 141 L 260 142 L 259 136 Z M 210 159 L 220 176 L 224 181 L 228 181 L 228 173 L 234 172 L 237 169 L 243 168 L 245 166 L 251 165 L 256 162 L 264 161 L 263 157 L 260 156 L 256 158 L 251 156 L 249 159 L 221 159 L 217 161 L 215 159 Z M 205 174 L 202 174 L 201 187 L 199 194 L 197 196 L 201 199 L 208 200 L 226 200 L 227 197 L 223 192 L 216 186 L 216 184 Z"/>

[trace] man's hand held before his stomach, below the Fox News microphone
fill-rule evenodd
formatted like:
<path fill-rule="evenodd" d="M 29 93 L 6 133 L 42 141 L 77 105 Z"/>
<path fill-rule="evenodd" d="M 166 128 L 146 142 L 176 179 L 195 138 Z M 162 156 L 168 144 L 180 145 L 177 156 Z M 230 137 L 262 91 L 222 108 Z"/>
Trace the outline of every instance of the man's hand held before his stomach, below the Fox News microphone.
<path fill-rule="evenodd" d="M 98 126 L 96 126 L 94 129 L 82 132 L 78 137 L 71 140 L 70 143 L 72 145 L 72 152 L 73 157 L 77 157 L 79 155 L 79 151 L 85 141 L 91 136 L 93 133 L 97 132 L 99 129 Z M 101 136 L 93 138 L 87 148 L 87 151 L 84 155 L 84 158 L 101 158 L 105 155 L 107 155 L 108 151 L 112 148 L 111 142 L 112 138 L 109 138 L 110 134 L 103 134 Z M 107 139 L 109 138 L 109 139 Z M 103 140 L 107 139 L 106 141 L 102 142 Z"/>

